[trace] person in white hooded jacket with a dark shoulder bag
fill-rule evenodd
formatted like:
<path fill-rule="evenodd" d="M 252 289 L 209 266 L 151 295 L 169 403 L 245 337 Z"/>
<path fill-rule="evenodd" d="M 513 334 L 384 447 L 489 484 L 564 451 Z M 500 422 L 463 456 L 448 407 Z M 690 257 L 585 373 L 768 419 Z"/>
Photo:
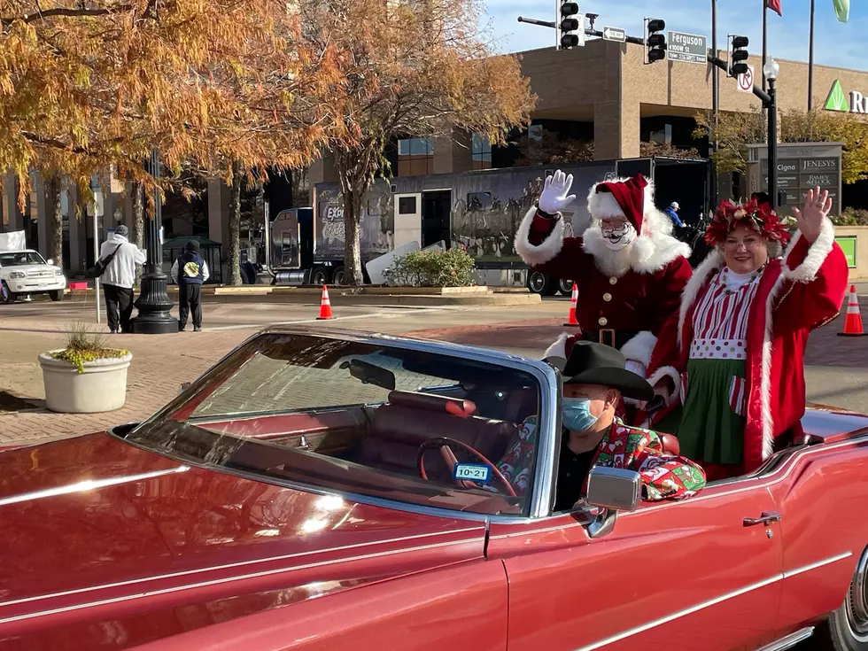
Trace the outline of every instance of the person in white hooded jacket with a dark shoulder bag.
<path fill-rule="evenodd" d="M 99 260 L 105 264 L 100 276 L 105 296 L 105 313 L 112 333 L 131 332 L 133 285 L 136 267 L 143 265 L 147 255 L 128 240 L 129 231 L 121 224 L 99 248 Z"/>

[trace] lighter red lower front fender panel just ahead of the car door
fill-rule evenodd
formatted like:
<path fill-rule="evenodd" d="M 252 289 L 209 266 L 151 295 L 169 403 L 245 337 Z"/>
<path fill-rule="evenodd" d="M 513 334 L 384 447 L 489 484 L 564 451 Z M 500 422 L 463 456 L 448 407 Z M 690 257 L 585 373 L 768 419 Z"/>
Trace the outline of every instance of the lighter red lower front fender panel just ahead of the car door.
<path fill-rule="evenodd" d="M 477 561 L 213 624 L 136 651 L 504 651 L 507 621 L 503 563 Z"/>

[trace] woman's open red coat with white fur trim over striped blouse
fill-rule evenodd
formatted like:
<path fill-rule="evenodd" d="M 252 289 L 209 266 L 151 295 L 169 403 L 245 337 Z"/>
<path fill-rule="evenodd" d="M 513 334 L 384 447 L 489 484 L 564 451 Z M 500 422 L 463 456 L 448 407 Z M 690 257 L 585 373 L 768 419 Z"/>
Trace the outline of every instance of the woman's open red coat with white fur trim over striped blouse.
<path fill-rule="evenodd" d="M 669 376 L 676 387 L 670 407 L 655 414 L 660 420 L 681 396 L 693 340 L 694 309 L 709 288 L 709 279 L 724 267 L 717 250 L 697 267 L 687 283 L 678 311 L 663 330 L 648 382 Z M 783 260 L 770 260 L 763 271 L 748 312 L 745 383 L 748 395 L 744 432 L 744 472 L 771 456 L 774 439 L 798 425 L 805 413 L 804 353 L 810 331 L 832 321 L 847 291 L 848 267 L 834 228 L 826 220 L 817 241 L 808 244 L 798 234 Z"/>

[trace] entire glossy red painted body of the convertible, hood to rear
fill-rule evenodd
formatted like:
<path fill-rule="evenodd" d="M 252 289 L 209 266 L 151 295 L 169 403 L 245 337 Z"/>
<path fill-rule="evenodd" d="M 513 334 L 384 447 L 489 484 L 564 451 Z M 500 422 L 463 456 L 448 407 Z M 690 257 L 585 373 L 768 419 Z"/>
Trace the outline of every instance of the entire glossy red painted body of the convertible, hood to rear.
<path fill-rule="evenodd" d="M 578 515 L 422 515 L 106 433 L 14 449 L 0 651 L 756 649 L 837 608 L 868 545 L 868 417 L 803 424 L 810 446 L 597 539 Z"/>

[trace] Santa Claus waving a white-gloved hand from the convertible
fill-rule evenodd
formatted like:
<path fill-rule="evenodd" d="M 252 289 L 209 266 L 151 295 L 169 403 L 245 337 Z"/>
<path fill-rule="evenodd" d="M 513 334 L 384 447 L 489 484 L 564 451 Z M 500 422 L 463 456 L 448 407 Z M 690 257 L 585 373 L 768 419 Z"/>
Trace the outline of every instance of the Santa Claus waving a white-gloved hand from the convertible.
<path fill-rule="evenodd" d="M 671 235 L 672 221 L 655 208 L 654 185 L 641 174 L 595 183 L 588 195 L 591 225 L 565 236 L 561 212 L 572 174 L 546 177 L 537 206 L 515 235 L 515 250 L 534 271 L 578 285 L 576 318 L 582 338 L 619 349 L 627 368 L 645 376 L 663 324 L 678 313 L 691 276 L 690 247 Z M 546 357 L 566 357 L 564 334 Z"/>

